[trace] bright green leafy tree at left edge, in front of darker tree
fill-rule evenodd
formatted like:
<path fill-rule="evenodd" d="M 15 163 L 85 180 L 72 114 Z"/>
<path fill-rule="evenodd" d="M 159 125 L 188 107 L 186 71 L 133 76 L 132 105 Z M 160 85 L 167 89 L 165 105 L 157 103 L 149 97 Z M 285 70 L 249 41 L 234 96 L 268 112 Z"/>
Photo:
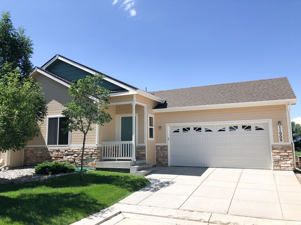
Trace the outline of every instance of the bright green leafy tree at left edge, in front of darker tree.
<path fill-rule="evenodd" d="M 40 83 L 21 79 L 18 69 L 0 78 L 0 151 L 24 148 L 39 135 L 47 113 Z"/>

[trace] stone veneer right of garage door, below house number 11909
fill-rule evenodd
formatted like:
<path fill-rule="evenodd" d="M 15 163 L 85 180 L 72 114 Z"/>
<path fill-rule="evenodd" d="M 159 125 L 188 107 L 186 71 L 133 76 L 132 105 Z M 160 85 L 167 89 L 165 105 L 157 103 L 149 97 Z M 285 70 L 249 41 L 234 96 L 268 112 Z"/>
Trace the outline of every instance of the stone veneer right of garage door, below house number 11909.
<path fill-rule="evenodd" d="M 274 170 L 294 170 L 293 145 L 272 145 Z"/>

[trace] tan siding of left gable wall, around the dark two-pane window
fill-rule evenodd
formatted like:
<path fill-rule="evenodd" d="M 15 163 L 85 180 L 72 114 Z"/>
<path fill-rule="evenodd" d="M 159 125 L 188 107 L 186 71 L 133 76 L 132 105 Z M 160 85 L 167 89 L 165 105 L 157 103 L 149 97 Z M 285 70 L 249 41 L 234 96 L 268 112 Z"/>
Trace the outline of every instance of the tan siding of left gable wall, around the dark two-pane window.
<path fill-rule="evenodd" d="M 62 111 L 66 109 L 62 107 L 72 100 L 71 96 L 68 94 L 68 88 L 42 74 L 37 74 L 34 77 L 42 86 L 42 92 L 45 93 L 46 105 L 48 107 L 47 114 L 51 115 L 61 115 Z M 34 140 L 29 141 L 27 145 L 46 145 L 46 124 L 47 119 L 45 118 L 44 123 L 41 126 L 41 133 Z M 94 130 L 89 131 L 86 138 L 86 144 L 94 144 L 96 141 L 96 126 L 92 125 Z M 82 144 L 83 135 L 79 131 L 74 131 L 71 133 L 71 144 Z"/>

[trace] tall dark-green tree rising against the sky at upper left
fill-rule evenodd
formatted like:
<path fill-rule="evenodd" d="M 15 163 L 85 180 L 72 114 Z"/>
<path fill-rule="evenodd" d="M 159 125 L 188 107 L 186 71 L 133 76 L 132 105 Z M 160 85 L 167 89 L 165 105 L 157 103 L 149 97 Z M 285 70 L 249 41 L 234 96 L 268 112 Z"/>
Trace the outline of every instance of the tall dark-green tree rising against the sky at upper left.
<path fill-rule="evenodd" d="M 25 29 L 13 27 L 9 12 L 3 12 L 0 19 L 0 77 L 18 68 L 21 78 L 27 78 L 33 64 L 33 43 L 24 35 Z M 6 65 L 6 66 L 5 66 Z"/>

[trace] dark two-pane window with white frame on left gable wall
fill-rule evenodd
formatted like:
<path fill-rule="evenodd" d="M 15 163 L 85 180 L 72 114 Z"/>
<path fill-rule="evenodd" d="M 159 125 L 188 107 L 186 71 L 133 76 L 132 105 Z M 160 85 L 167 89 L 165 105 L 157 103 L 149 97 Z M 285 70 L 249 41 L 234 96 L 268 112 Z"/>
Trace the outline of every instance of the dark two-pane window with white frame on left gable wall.
<path fill-rule="evenodd" d="M 48 118 L 47 145 L 68 145 L 69 132 L 64 133 L 62 128 L 65 127 L 65 117 Z"/>

